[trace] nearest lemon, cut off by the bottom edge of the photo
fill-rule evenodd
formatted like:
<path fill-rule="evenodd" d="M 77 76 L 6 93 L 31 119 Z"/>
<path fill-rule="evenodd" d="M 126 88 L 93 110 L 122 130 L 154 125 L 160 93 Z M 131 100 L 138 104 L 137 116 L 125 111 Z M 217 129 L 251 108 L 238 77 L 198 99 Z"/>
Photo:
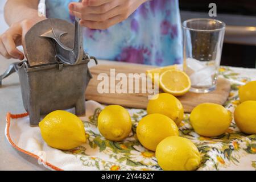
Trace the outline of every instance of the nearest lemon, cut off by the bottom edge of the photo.
<path fill-rule="evenodd" d="M 192 171 L 199 167 L 200 153 L 191 142 L 183 137 L 167 137 L 156 147 L 156 159 L 166 171 Z"/>

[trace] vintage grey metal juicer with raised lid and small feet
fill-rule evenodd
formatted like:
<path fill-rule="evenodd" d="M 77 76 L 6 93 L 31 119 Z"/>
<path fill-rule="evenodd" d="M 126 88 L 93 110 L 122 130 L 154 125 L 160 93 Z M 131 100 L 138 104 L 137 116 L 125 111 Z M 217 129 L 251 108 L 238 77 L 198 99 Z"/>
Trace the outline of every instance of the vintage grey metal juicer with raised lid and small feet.
<path fill-rule="evenodd" d="M 25 36 L 26 61 L 11 64 L 0 76 L 18 72 L 22 100 L 30 125 L 38 125 L 41 115 L 75 107 L 85 114 L 85 89 L 92 75 L 90 57 L 82 46 L 79 19 L 75 26 L 61 19 L 46 19 L 35 24 Z"/>

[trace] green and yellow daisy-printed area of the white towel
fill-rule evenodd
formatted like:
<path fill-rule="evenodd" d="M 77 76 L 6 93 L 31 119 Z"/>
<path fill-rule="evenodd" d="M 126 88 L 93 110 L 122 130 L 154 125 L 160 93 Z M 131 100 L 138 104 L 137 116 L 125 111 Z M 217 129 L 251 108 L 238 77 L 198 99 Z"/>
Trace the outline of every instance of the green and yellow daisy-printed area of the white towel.
<path fill-rule="evenodd" d="M 232 82 L 232 90 L 225 107 L 234 111 L 240 103 L 238 100 L 238 88 L 250 81 L 232 71 L 229 67 L 220 68 L 220 76 L 228 78 Z M 90 169 L 98 170 L 160 170 L 155 153 L 144 148 L 136 136 L 136 127 L 139 120 L 147 113 L 142 109 L 129 109 L 133 122 L 133 130 L 129 137 L 122 142 L 106 140 L 97 129 L 97 117 L 101 109 L 94 110 L 89 121 L 84 121 L 87 144 L 75 150 L 65 151 L 76 155 L 82 164 Z M 218 137 L 201 137 L 196 134 L 189 122 L 189 114 L 185 114 L 179 127 L 180 136 L 192 140 L 201 154 L 199 170 L 223 170 L 223 169 L 255 169 L 256 167 L 256 135 L 241 133 L 236 123 L 232 121 L 225 134 Z M 245 162 L 244 159 L 247 159 Z M 249 160 L 248 160 L 249 159 Z M 240 165 L 241 163 L 243 166 Z"/>

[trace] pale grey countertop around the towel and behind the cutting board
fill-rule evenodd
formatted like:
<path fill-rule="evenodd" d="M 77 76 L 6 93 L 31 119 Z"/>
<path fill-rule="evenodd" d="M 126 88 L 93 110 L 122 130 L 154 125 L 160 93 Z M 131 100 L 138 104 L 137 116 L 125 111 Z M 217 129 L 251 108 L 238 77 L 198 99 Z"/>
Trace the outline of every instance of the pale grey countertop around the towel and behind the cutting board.
<path fill-rule="evenodd" d="M 7 60 L 0 56 L 0 75 L 15 61 L 17 60 Z M 106 60 L 99 60 L 98 62 L 99 64 L 117 64 L 117 62 Z M 90 61 L 89 67 L 93 65 L 94 61 Z M 44 166 L 38 164 L 37 160 L 15 150 L 5 137 L 6 113 L 8 111 L 12 114 L 26 112 L 22 103 L 18 74 L 13 73 L 2 81 L 0 98 L 0 170 L 46 170 Z"/>

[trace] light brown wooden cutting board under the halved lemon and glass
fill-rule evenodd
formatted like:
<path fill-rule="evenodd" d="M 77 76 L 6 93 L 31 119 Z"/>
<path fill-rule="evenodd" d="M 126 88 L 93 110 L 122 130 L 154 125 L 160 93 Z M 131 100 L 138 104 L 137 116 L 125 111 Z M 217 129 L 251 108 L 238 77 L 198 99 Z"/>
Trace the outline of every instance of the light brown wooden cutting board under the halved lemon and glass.
<path fill-rule="evenodd" d="M 94 100 L 102 104 L 117 104 L 125 107 L 133 107 L 138 109 L 146 109 L 148 102 L 148 94 L 144 93 L 98 93 L 97 86 L 102 81 L 97 80 L 100 73 L 106 73 L 109 76 L 109 90 L 110 90 L 110 69 L 115 69 L 115 76 L 118 73 L 146 73 L 146 70 L 155 68 L 148 65 L 96 65 L 90 68 L 92 73 L 92 80 L 90 80 L 88 88 L 86 89 L 86 100 Z M 117 84 L 119 81 L 115 81 Z M 129 88 L 127 88 L 129 89 Z M 205 94 L 197 94 L 188 92 L 184 96 L 177 97 L 183 104 L 185 113 L 191 113 L 192 109 L 203 103 L 212 102 L 223 105 L 227 100 L 230 92 L 230 82 L 225 78 L 218 78 L 217 88 L 213 92 Z"/>

